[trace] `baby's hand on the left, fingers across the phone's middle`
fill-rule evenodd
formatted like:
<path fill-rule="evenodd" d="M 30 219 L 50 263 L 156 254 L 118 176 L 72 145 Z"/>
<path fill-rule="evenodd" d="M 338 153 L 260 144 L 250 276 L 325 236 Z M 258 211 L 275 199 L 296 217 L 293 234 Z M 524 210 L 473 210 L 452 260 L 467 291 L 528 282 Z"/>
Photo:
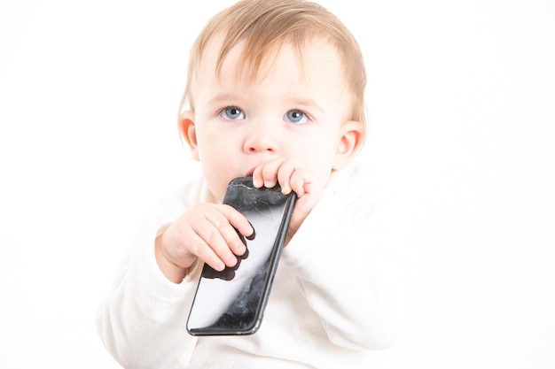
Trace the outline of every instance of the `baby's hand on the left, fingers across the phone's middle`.
<path fill-rule="evenodd" d="M 222 271 L 236 265 L 237 256 L 246 251 L 238 233 L 248 237 L 253 232 L 248 220 L 229 205 L 196 204 L 156 239 L 156 261 L 175 282 L 183 280 L 197 259 Z"/>

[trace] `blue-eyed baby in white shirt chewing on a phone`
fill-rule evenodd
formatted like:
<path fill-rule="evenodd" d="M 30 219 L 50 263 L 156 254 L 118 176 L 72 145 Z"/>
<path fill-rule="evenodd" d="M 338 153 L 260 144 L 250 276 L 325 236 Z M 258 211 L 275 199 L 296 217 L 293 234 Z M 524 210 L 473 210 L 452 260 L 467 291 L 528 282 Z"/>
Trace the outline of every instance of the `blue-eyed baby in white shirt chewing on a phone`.
<path fill-rule="evenodd" d="M 208 22 L 179 116 L 202 177 L 154 209 L 98 310 L 121 365 L 368 368 L 403 337 L 409 265 L 374 227 L 371 178 L 354 160 L 365 83 L 356 40 L 317 4 L 243 0 Z M 194 337 L 185 322 L 199 268 L 236 265 L 238 233 L 254 232 L 222 204 L 241 176 L 297 194 L 285 250 L 256 334 Z"/>

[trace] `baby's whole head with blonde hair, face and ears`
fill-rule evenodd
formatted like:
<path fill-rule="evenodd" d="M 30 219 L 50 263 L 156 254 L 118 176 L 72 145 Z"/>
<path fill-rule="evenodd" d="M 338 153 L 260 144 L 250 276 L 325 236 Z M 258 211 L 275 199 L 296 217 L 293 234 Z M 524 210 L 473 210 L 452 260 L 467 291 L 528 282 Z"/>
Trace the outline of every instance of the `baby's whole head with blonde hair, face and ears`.
<path fill-rule="evenodd" d="M 187 78 L 180 128 L 216 197 L 274 155 L 325 183 L 366 134 L 361 50 L 315 3 L 242 0 L 216 14 L 192 46 Z"/>

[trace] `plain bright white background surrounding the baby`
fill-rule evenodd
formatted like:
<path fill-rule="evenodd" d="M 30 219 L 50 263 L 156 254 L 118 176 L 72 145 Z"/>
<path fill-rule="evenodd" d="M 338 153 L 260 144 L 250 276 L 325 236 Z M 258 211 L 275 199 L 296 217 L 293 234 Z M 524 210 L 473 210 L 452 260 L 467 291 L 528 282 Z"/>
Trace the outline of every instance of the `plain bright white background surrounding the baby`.
<path fill-rule="evenodd" d="M 0 0 L 0 367 L 119 367 L 94 311 L 187 176 L 188 50 L 227 4 Z M 321 4 L 363 47 L 363 156 L 422 251 L 392 367 L 555 367 L 555 4 Z"/>

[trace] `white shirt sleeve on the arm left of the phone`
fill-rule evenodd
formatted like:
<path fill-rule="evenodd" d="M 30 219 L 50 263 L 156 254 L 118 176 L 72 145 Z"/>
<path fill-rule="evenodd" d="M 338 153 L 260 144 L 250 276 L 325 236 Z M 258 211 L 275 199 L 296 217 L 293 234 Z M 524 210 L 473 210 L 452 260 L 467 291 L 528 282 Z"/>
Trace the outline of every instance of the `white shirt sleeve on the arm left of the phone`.
<path fill-rule="evenodd" d="M 197 186 L 178 192 L 195 196 L 199 191 Z M 123 367 L 186 367 L 196 344 L 185 328 L 196 282 L 191 277 L 180 284 L 168 281 L 154 257 L 160 227 L 187 208 L 180 194 L 162 200 L 145 220 L 98 307 L 98 334 Z"/>

